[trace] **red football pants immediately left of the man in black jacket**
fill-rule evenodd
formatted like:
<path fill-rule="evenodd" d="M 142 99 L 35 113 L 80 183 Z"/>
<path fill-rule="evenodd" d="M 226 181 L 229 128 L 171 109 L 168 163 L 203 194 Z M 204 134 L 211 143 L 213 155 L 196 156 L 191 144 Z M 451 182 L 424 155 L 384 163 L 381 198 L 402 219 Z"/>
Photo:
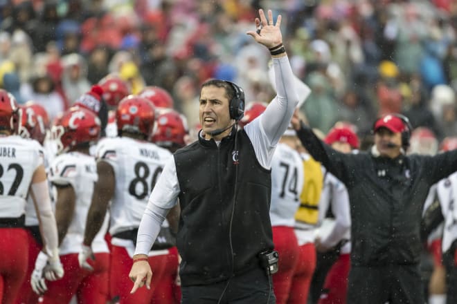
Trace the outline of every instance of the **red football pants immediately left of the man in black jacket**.
<path fill-rule="evenodd" d="M 321 294 L 319 304 L 346 304 L 349 270 L 350 254 L 341 254 L 325 278 L 326 292 Z"/>

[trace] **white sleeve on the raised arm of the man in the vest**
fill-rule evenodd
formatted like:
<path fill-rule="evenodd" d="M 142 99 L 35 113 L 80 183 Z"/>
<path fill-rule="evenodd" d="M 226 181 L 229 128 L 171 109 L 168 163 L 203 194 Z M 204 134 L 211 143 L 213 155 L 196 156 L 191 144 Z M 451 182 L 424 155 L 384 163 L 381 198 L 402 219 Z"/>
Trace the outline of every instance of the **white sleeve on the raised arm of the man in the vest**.
<path fill-rule="evenodd" d="M 286 131 L 298 104 L 298 94 L 289 59 L 287 56 L 274 58 L 273 66 L 277 95 L 262 115 L 244 126 L 258 161 L 267 169 L 271 167 L 276 144 Z"/>

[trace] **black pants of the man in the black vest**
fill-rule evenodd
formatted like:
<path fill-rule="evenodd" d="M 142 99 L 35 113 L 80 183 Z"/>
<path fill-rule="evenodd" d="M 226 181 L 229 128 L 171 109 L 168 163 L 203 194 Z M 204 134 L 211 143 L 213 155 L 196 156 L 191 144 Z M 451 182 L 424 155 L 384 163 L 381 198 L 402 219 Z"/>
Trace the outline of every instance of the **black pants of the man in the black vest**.
<path fill-rule="evenodd" d="M 211 285 L 181 286 L 181 293 L 181 304 L 218 303 L 219 299 L 226 304 L 276 303 L 271 276 L 260 268 Z"/>

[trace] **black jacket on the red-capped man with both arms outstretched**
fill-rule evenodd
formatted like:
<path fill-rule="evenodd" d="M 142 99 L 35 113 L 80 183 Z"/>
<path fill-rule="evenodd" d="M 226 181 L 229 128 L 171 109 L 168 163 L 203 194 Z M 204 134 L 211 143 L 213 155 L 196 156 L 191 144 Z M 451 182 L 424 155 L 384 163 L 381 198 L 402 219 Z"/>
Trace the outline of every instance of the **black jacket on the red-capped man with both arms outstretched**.
<path fill-rule="evenodd" d="M 312 157 L 348 188 L 352 266 L 419 263 L 422 209 L 432 184 L 457 171 L 457 151 L 435 156 L 335 151 L 302 124 L 297 131 Z"/>

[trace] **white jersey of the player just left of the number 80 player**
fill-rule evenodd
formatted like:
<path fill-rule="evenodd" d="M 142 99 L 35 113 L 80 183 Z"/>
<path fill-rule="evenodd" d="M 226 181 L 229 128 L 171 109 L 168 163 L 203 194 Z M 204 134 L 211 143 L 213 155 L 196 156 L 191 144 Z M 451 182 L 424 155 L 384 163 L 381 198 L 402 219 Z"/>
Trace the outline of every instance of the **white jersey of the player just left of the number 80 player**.
<path fill-rule="evenodd" d="M 79 152 L 58 155 L 49 169 L 49 180 L 56 186 L 69 185 L 75 191 L 75 211 L 66 236 L 60 245 L 60 254 L 78 253 L 84 239 L 93 187 L 98 180 L 95 158 Z M 103 226 L 93 240 L 94 252 L 108 252 L 104 240 L 107 218 L 105 218 Z"/>

